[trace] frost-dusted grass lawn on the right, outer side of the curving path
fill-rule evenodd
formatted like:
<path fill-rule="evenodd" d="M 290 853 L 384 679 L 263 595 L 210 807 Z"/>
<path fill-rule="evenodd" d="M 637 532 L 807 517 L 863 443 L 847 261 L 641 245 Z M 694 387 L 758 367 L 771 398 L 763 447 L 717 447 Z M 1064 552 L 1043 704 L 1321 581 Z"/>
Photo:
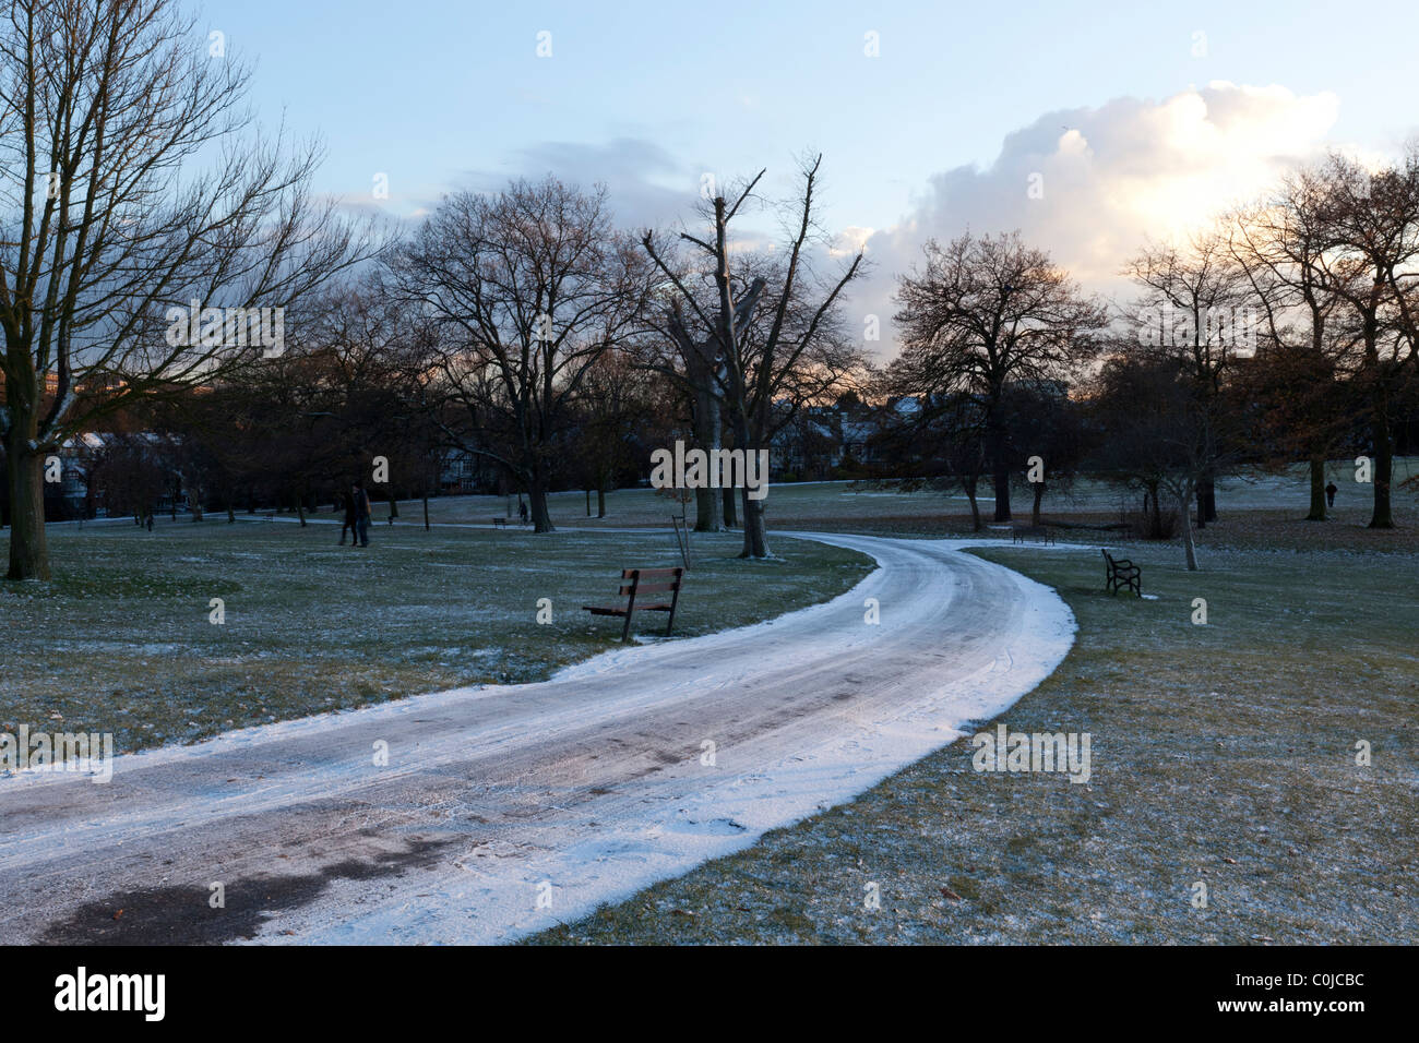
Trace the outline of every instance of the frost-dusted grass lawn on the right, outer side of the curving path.
<path fill-rule="evenodd" d="M 1088 732 L 1087 785 L 978 773 L 962 739 L 532 941 L 1419 942 L 1419 559 L 1212 551 L 1188 573 L 1134 546 L 1138 600 L 1101 593 L 1097 552 L 982 553 L 1078 619 L 1000 719 Z"/>

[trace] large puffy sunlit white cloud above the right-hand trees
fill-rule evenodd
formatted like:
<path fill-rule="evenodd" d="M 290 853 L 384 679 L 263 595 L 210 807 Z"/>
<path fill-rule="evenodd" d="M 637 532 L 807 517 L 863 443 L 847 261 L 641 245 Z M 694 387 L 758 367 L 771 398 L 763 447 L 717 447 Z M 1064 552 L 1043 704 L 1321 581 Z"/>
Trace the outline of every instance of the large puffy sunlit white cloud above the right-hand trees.
<path fill-rule="evenodd" d="M 1332 94 L 1218 81 L 1164 101 L 1047 112 L 1006 136 L 989 167 L 931 177 L 911 213 L 871 234 L 876 267 L 851 307 L 881 315 L 890 345 L 894 275 L 920 260 L 928 237 L 948 240 L 968 227 L 1019 228 L 1086 288 L 1115 292 L 1118 270 L 1147 238 L 1202 226 L 1323 152 L 1338 108 Z"/>

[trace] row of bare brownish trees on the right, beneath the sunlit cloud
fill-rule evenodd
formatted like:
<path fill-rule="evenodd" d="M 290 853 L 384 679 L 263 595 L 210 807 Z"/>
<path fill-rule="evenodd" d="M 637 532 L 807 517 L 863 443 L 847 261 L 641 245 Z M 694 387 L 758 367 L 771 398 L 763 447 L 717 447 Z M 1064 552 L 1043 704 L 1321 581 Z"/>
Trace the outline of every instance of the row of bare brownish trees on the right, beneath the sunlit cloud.
<path fill-rule="evenodd" d="M 876 382 L 920 406 L 884 413 L 884 444 L 915 447 L 908 481 L 964 488 L 979 525 L 982 477 L 1007 521 L 1027 460 L 1056 478 L 1090 467 L 1155 514 L 1172 501 L 1195 568 L 1189 504 L 1215 521 L 1218 478 L 1304 460 L 1320 521 L 1325 461 L 1358 447 L 1374 457 L 1369 525 L 1393 526 L 1395 427 L 1419 365 L 1419 150 L 1378 172 L 1331 155 L 1182 244 L 1145 245 L 1124 274 L 1134 298 L 1107 307 L 1019 234 L 928 243 L 898 282 L 901 356 Z M 1037 522 L 1046 482 L 1032 481 Z"/>

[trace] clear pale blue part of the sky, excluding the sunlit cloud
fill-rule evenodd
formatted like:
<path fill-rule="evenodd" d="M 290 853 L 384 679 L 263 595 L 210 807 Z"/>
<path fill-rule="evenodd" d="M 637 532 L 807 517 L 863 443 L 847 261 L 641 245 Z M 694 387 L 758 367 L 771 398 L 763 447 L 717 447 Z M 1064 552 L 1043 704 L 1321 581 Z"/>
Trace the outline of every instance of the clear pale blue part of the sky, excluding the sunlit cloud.
<path fill-rule="evenodd" d="M 1388 10 L 1386 10 L 1388 9 Z M 548 142 L 657 143 L 687 170 L 827 156 L 833 216 L 883 227 L 927 177 L 989 163 L 1043 112 L 1189 84 L 1281 84 L 1341 99 L 1335 132 L 1413 129 L 1415 6 L 1324 4 L 524 4 L 214 0 L 199 9 L 258 62 L 253 101 L 321 132 L 319 187 L 392 206 L 471 173 L 515 172 Z M 538 58 L 536 34 L 552 34 Z M 880 57 L 864 55 L 864 33 Z M 1193 57 L 1193 33 L 1206 55 Z M 673 184 L 677 170 L 650 169 Z M 568 172 L 570 173 L 570 172 Z M 695 190 L 697 182 L 687 186 Z"/>

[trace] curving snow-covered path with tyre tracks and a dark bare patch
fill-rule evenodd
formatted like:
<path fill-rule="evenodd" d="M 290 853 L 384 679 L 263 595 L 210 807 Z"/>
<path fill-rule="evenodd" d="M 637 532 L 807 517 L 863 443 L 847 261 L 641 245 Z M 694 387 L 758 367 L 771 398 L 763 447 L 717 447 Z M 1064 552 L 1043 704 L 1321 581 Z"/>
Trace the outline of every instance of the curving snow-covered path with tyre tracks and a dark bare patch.
<path fill-rule="evenodd" d="M 541 684 L 121 756 L 108 785 L 0 779 L 0 942 L 507 941 L 863 792 L 1073 641 L 1051 590 L 955 543 L 783 535 L 878 569 L 826 605 Z"/>

